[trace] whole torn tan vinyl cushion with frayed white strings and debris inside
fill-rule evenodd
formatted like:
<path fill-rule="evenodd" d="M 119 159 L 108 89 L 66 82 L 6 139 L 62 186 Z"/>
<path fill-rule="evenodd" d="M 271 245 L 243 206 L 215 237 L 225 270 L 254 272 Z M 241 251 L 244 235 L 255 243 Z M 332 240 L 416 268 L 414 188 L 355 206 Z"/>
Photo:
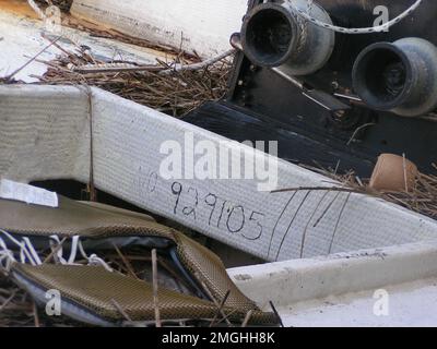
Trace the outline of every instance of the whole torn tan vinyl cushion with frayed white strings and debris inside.
<path fill-rule="evenodd" d="M 94 326 L 277 324 L 217 255 L 150 216 L 7 180 L 0 189 L 0 323 L 40 325 L 33 302 L 50 316 L 56 290 L 57 315 Z"/>

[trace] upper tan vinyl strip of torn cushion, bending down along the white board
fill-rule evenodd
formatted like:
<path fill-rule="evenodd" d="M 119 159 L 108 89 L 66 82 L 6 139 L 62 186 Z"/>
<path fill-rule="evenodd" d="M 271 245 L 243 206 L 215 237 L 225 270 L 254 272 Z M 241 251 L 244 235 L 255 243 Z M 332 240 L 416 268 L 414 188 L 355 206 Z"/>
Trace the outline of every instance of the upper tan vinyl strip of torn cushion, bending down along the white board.
<path fill-rule="evenodd" d="M 241 313 L 259 311 L 255 302 L 244 296 L 228 277 L 222 261 L 212 251 L 173 228 L 155 222 L 149 216 L 115 207 L 74 202 L 59 197 L 59 207 L 27 205 L 0 200 L 0 227 L 10 233 L 32 236 L 72 237 L 90 239 L 111 237 L 160 237 L 175 243 L 178 258 L 201 288 L 208 288 L 215 301 L 221 302 L 229 291 L 227 306 Z M 79 273 L 79 269 L 71 269 Z M 85 270 L 85 269 L 83 269 Z M 70 272 L 69 272 L 70 273 Z M 88 270 L 82 273 L 91 273 Z M 39 275 L 38 278 L 43 278 Z M 67 282 L 67 280 L 64 280 Z M 257 317 L 258 316 L 258 317 Z M 272 314 L 257 315 L 260 323 Z"/>

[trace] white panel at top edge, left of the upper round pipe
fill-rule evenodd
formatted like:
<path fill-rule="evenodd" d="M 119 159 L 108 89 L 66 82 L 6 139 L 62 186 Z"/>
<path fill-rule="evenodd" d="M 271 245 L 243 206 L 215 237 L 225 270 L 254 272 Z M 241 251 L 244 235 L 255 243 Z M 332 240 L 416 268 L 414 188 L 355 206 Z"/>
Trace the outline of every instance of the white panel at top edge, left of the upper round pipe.
<path fill-rule="evenodd" d="M 247 0 L 74 0 L 71 12 L 131 36 L 208 57 L 231 48 L 231 34 L 239 32 L 246 10 Z"/>

